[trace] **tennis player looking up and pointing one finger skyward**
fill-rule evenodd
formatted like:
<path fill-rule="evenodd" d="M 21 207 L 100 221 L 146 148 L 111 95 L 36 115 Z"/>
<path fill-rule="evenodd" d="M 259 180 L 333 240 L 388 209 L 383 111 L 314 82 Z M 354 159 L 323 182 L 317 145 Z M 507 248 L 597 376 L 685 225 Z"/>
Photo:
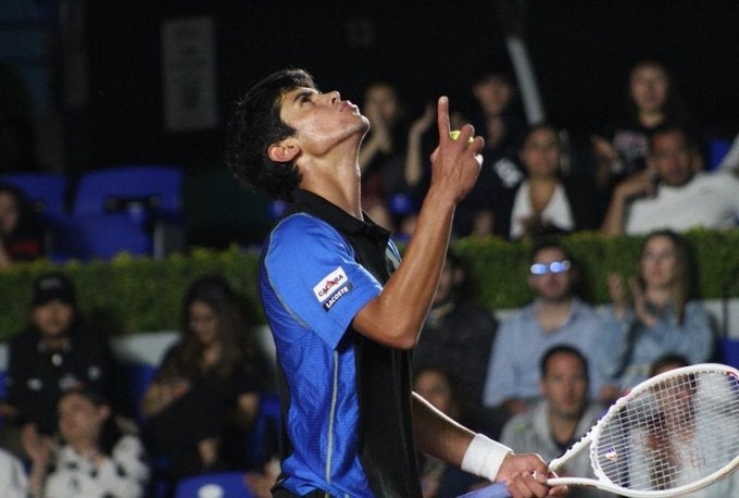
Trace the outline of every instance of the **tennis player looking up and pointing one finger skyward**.
<path fill-rule="evenodd" d="M 262 304 L 277 348 L 283 473 L 273 496 L 421 497 L 416 450 L 505 483 L 513 497 L 561 496 L 547 464 L 474 434 L 411 391 L 411 351 L 474 185 L 483 139 L 439 146 L 418 224 L 401 262 L 361 209 L 358 153 L 369 127 L 337 91 L 301 70 L 252 87 L 229 124 L 227 162 L 243 185 L 292 203 L 264 242 Z"/>

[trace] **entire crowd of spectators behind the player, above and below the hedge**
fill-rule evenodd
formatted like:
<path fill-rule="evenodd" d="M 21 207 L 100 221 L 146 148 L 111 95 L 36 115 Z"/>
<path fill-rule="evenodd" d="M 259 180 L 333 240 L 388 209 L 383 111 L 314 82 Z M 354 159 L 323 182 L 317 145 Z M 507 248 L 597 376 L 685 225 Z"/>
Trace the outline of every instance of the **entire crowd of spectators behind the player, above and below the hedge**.
<path fill-rule="evenodd" d="M 709 137 L 660 62 L 637 63 L 625 90 L 623 115 L 605 117 L 586 148 L 553 124 L 527 125 L 504 72 L 481 74 L 471 88 L 477 112 L 452 116 L 452 128 L 469 122 L 486 140 L 453 235 L 535 242 L 521 275 L 535 299 L 499 321 L 468 295 L 464 264 L 450 253 L 415 350 L 414 386 L 515 451 L 554 458 L 665 357 L 714 358 L 680 233 L 737 226 L 739 161 L 729 153 L 709 167 Z M 411 116 L 397 88 L 376 82 L 361 109 L 372 125 L 359 157 L 363 208 L 399 239 L 410 237 L 437 139 L 434 107 Z M 576 295 L 577 261 L 556 240 L 585 229 L 647 235 L 637 276 L 609 275 L 611 302 L 602 309 Z M 0 187 L 0 270 L 42 257 L 42 234 L 23 192 Z M 13 478 L 0 483 L 38 497 L 137 497 L 153 482 L 173 493 L 184 477 L 237 469 L 251 471 L 245 485 L 254 493 L 268 493 L 275 471 L 250 461 L 246 447 L 260 397 L 275 391 L 275 366 L 223 275 L 190 284 L 179 339 L 133 409 L 122 401 L 105 338 L 77 304 L 64 274 L 35 282 L 27 327 L 10 344 L 0 472 Z M 480 485 L 421 458 L 425 498 Z M 571 465 L 562 472 L 590 472 L 584 462 Z"/>

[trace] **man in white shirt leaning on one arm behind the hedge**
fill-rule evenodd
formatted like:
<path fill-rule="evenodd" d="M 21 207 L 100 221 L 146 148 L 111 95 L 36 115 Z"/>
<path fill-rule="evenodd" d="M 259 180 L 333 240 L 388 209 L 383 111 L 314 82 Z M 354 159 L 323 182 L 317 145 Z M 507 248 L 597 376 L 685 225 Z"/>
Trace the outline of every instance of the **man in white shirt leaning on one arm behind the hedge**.
<path fill-rule="evenodd" d="M 727 173 L 696 173 L 693 144 L 685 128 L 655 129 L 648 170 L 616 187 L 602 231 L 605 235 L 653 229 L 730 228 L 739 220 L 739 178 Z"/>

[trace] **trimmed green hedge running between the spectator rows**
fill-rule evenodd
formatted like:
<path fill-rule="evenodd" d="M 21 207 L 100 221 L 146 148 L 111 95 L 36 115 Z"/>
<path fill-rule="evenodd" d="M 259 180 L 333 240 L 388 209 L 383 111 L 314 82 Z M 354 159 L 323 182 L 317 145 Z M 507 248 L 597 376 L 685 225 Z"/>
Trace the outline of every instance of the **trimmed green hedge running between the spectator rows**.
<path fill-rule="evenodd" d="M 739 297 L 739 229 L 687 234 L 698 263 L 700 296 Z M 563 237 L 583 272 L 581 294 L 593 303 L 608 301 L 608 272 L 631 275 L 642 238 L 603 238 L 597 233 Z M 526 284 L 530 245 L 500 239 L 462 239 L 452 249 L 467 263 L 478 300 L 492 310 L 522 306 L 531 299 Z M 55 266 L 39 261 L 0 273 L 0 340 L 22 328 L 30 300 L 30 283 L 40 273 L 62 270 L 77 287 L 85 316 L 108 334 L 177 329 L 180 303 L 190 282 L 208 273 L 226 276 L 245 297 L 253 316 L 263 321 L 256 296 L 259 254 L 233 247 L 226 251 L 196 249 L 164 261 L 118 256 L 110 262 L 72 262 Z"/>

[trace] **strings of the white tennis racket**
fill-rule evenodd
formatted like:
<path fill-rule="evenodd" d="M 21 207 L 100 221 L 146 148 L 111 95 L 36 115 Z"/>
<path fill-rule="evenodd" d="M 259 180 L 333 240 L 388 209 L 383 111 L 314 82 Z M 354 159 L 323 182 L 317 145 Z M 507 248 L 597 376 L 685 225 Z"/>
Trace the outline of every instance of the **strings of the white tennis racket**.
<path fill-rule="evenodd" d="M 739 382 L 681 374 L 634 394 L 603 421 L 591 447 L 597 472 L 629 489 L 674 489 L 739 456 Z"/>

